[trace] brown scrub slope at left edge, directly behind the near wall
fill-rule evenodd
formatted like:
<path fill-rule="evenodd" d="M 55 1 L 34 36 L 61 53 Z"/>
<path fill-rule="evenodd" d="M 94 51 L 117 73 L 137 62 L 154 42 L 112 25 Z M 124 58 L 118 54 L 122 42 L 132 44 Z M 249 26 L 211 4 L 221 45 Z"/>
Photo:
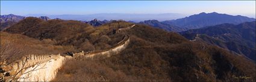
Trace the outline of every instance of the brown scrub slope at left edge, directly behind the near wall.
<path fill-rule="evenodd" d="M 7 32 L 0 33 L 1 56 L 18 51 L 17 54 L 19 54 L 19 56 L 17 56 L 17 59 L 19 59 L 20 56 L 27 54 L 58 54 L 72 49 L 70 46 L 52 45 L 55 41 L 50 39 L 40 41 L 24 35 L 9 34 Z M 5 48 L 7 49 L 5 50 Z"/>

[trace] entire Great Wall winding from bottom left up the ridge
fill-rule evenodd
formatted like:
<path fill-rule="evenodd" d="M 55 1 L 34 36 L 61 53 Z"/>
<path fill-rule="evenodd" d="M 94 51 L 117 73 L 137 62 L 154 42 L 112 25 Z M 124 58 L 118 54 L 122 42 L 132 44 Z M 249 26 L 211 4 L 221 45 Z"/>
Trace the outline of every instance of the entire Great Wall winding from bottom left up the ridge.
<path fill-rule="evenodd" d="M 131 29 L 135 25 L 128 28 L 118 29 L 117 33 L 124 31 L 126 29 Z M 84 56 L 88 58 L 93 58 L 96 56 L 110 57 L 113 54 L 120 53 L 124 50 L 130 43 L 129 35 L 125 35 L 123 39 L 117 43 L 114 47 L 99 50 L 99 51 L 89 51 L 84 53 L 74 53 L 75 56 Z M 14 63 L 4 65 L 5 69 L 9 69 L 10 75 L 16 74 L 17 81 L 51 81 L 55 78 L 58 69 L 61 68 L 66 59 L 72 58 L 71 56 L 61 56 L 60 54 L 54 55 L 28 55 L 22 57 L 22 59 L 17 60 Z M 7 81 L 13 80 L 14 76 L 4 77 Z M 15 80 L 14 80 L 15 81 Z"/>

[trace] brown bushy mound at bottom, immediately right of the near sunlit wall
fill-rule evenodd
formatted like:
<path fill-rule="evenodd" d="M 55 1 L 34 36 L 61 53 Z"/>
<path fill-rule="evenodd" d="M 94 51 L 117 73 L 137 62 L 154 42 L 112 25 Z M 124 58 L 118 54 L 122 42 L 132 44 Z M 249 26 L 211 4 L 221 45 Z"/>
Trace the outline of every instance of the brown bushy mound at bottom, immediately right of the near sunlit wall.
<path fill-rule="evenodd" d="M 68 61 L 59 70 L 65 72 L 58 72 L 56 79 L 52 81 L 137 81 L 134 77 L 127 76 L 122 71 L 114 71 L 96 60 L 80 57 Z"/>

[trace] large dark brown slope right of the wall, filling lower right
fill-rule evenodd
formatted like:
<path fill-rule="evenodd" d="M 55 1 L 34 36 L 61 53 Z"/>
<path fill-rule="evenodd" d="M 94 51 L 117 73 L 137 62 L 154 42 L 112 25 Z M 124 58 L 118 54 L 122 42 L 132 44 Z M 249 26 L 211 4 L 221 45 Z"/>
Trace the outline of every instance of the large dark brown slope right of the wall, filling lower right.
<path fill-rule="evenodd" d="M 222 48 L 145 25 L 125 33 L 120 54 L 69 60 L 53 81 L 255 81 L 255 63 Z"/>

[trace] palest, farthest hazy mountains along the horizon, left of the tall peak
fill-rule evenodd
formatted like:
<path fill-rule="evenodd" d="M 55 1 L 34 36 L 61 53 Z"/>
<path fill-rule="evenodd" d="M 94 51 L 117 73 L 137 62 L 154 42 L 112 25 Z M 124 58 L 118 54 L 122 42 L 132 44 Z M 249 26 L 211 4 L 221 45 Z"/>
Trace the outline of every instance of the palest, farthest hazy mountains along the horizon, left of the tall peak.
<path fill-rule="evenodd" d="M 183 14 L 176 13 L 165 13 L 165 14 L 122 14 L 122 13 L 100 13 L 100 14 L 86 14 L 86 15 L 75 15 L 75 14 L 63 14 L 63 15 L 49 15 L 49 14 L 28 14 L 25 16 L 48 16 L 51 19 L 60 18 L 63 20 L 86 20 L 90 21 L 93 19 L 98 20 L 133 20 L 134 22 L 140 22 L 143 20 L 170 20 L 170 19 L 179 19 L 185 17 Z"/>

